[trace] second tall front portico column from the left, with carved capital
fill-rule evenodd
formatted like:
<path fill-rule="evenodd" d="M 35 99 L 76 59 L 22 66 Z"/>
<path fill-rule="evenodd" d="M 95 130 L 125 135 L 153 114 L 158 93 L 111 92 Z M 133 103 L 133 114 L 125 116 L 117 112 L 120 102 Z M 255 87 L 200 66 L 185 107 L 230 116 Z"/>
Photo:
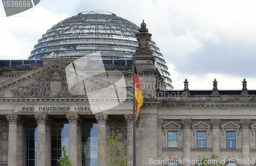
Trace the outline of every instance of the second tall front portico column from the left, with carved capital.
<path fill-rule="evenodd" d="M 37 122 L 37 166 L 46 165 L 46 114 L 35 115 Z"/>

